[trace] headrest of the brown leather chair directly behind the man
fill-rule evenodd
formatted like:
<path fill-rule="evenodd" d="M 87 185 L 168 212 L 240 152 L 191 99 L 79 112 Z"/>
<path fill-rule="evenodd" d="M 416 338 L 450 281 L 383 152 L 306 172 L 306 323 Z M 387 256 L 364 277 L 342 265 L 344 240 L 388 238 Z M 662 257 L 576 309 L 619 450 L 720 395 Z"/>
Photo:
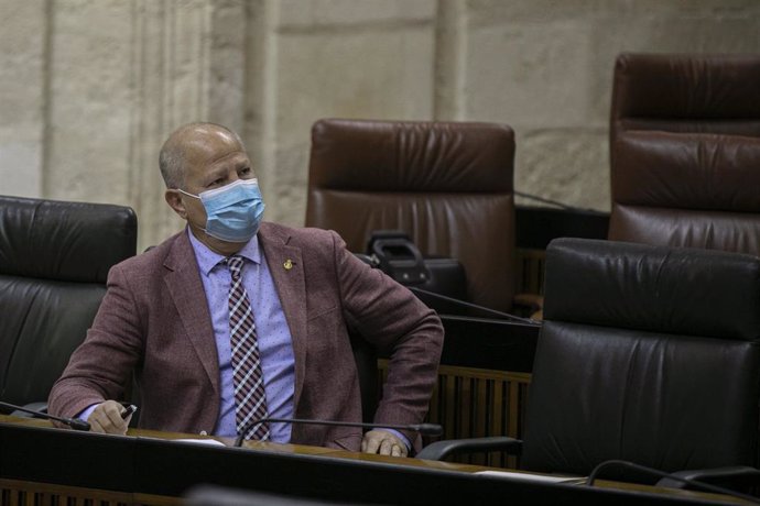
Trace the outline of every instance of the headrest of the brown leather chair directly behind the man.
<path fill-rule="evenodd" d="M 310 187 L 351 191 L 511 193 L 506 124 L 325 119 L 312 128 Z"/>

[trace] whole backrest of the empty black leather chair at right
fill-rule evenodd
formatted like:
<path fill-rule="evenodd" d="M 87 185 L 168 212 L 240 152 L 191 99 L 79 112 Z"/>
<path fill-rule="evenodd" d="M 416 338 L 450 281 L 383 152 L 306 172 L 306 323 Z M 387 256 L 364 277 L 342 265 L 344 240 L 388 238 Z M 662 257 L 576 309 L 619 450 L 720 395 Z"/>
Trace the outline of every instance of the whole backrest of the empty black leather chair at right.
<path fill-rule="evenodd" d="M 524 469 L 757 465 L 760 258 L 561 239 L 545 283 Z"/>

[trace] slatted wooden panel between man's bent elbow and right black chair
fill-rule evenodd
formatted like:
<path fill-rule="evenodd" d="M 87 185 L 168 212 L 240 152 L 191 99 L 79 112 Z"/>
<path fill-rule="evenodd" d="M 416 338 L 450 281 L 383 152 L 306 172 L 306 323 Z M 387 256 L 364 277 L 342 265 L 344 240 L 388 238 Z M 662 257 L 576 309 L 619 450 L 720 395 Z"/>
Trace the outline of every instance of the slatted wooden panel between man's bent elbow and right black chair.
<path fill-rule="evenodd" d="M 388 361 L 379 361 L 384 382 Z M 441 365 L 425 421 L 441 424 L 441 439 L 509 436 L 522 438 L 531 375 L 485 369 Z M 428 442 L 428 441 L 425 441 Z M 517 469 L 518 460 L 502 452 L 463 455 L 456 462 Z"/>

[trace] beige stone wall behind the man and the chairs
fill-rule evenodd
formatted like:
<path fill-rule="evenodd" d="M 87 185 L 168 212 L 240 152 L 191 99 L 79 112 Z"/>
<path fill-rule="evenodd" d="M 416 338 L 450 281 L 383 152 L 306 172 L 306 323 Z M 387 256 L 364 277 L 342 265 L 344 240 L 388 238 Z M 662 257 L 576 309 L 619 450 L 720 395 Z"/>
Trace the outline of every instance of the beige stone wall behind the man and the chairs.
<path fill-rule="evenodd" d="M 517 189 L 607 210 L 615 56 L 760 52 L 756 0 L 0 0 L 0 194 L 181 227 L 158 150 L 241 132 L 268 219 L 303 223 L 324 117 L 503 122 Z"/>

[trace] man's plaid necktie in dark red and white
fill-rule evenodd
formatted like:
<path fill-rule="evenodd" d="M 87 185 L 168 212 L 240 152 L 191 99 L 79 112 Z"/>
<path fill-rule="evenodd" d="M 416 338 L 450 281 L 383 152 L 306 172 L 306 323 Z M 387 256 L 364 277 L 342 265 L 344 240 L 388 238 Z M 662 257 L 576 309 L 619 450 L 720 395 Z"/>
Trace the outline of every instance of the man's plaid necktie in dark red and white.
<path fill-rule="evenodd" d="M 253 420 L 267 418 L 267 393 L 261 373 L 253 309 L 242 286 L 242 256 L 234 255 L 224 261 L 232 275 L 229 289 L 229 336 L 232 348 L 235 383 L 235 421 L 238 435 Z M 246 439 L 269 439 L 269 424 L 260 424 Z"/>

